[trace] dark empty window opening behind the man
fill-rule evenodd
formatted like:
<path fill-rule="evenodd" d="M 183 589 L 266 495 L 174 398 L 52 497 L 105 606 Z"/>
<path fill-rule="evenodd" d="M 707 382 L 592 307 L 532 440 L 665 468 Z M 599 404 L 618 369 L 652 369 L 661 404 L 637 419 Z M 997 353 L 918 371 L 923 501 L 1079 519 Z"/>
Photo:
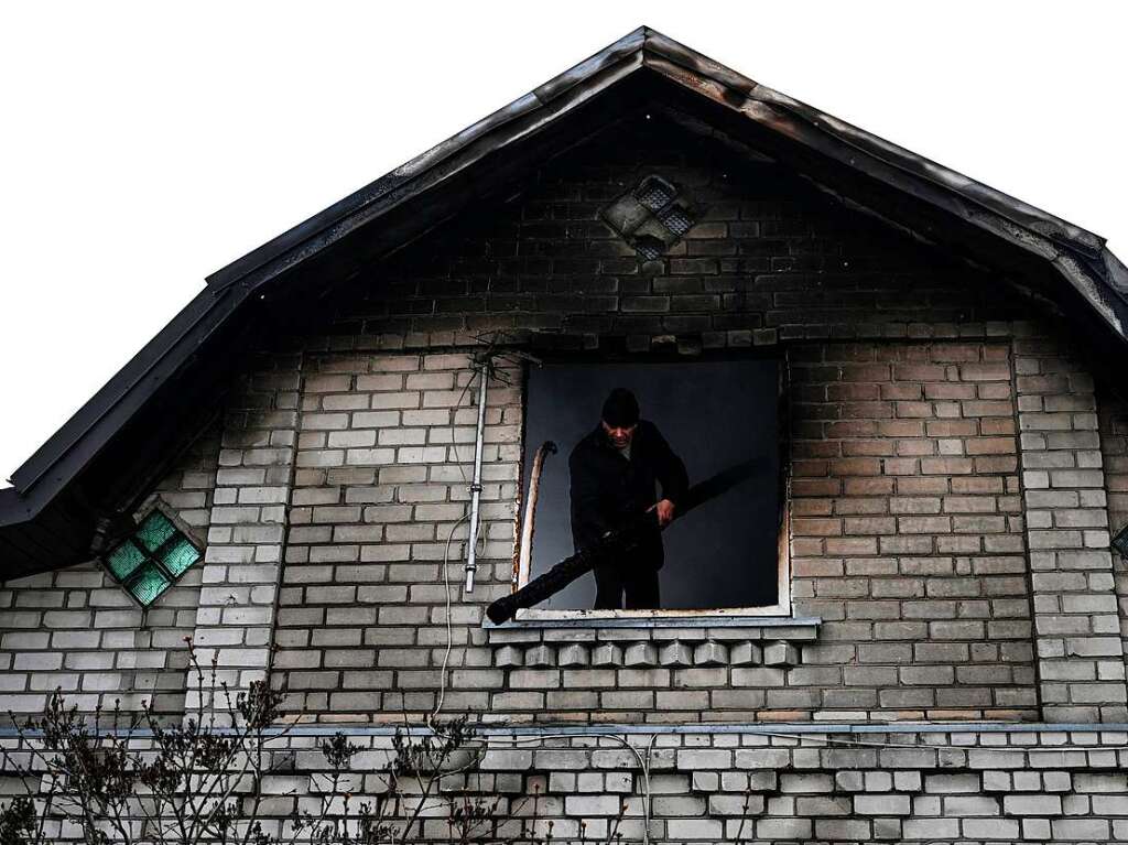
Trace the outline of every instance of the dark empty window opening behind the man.
<path fill-rule="evenodd" d="M 695 509 L 685 522 L 675 519 L 663 531 L 660 600 L 645 610 L 790 613 L 787 547 L 781 542 L 786 527 L 776 359 L 546 363 L 530 369 L 522 488 L 529 488 L 532 457 L 543 442 L 555 441 L 561 454 L 544 463 L 531 562 L 518 586 L 575 551 L 569 458 L 600 424 L 602 403 L 615 387 L 636 395 L 642 420 L 653 423 L 685 461 L 690 484 L 749 460 L 756 465 L 754 477 Z M 518 618 L 545 611 L 590 615 L 596 595 L 596 574 L 589 573 Z"/>

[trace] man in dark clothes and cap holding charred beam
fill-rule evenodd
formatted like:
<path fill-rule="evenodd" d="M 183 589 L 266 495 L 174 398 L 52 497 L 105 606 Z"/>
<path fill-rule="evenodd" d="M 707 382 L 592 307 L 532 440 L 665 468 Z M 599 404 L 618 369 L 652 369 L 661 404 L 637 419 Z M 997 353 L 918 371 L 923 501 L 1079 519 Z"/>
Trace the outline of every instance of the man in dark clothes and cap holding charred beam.
<path fill-rule="evenodd" d="M 611 390 L 600 417 L 596 430 L 569 457 L 576 551 L 649 510 L 656 511 L 658 525 L 664 528 L 677 516 L 678 502 L 689 486 L 681 458 L 653 423 L 638 419 L 633 393 L 623 387 Z M 662 536 L 655 530 L 617 560 L 596 566 L 594 609 L 659 607 L 662 563 Z"/>

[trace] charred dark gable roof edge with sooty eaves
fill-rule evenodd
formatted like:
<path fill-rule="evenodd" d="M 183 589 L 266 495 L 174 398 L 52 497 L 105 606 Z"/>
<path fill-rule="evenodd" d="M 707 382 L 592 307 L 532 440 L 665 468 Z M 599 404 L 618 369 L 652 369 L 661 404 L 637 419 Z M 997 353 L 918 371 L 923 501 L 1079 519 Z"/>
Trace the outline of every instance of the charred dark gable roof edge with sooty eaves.
<path fill-rule="evenodd" d="M 210 275 L 204 290 L 15 472 L 15 486 L 0 491 L 0 578 L 90 556 L 90 539 L 98 520 L 108 516 L 107 505 L 92 503 L 95 492 L 104 498 L 99 487 L 80 482 L 96 461 L 107 460 L 115 442 L 152 417 L 155 404 L 187 405 L 185 396 L 208 395 L 223 370 L 218 362 L 224 344 L 256 320 L 268 319 L 263 306 L 267 293 L 300 284 L 314 269 L 354 261 L 342 245 L 360 229 L 365 250 L 373 253 L 433 228 L 457 213 L 459 197 L 474 191 L 475 174 L 544 157 L 562 143 L 562 135 L 553 133 L 562 133 L 572 115 L 632 85 L 645 91 L 662 86 L 681 102 L 710 109 L 711 120 L 724 123 L 728 132 L 774 139 L 805 157 L 814 170 L 836 167 L 864 179 L 873 195 L 884 191 L 911 197 L 929 213 L 958 221 L 966 232 L 1005 244 L 1013 255 L 1049 269 L 1060 296 L 1079 305 L 1105 343 L 1117 350 L 1128 343 L 1128 270 L 1103 238 L 640 27 Z M 865 201 L 855 206 L 874 210 Z M 914 234 L 928 237 L 924 229 Z M 192 417 L 165 426 L 186 430 L 192 420 L 199 422 Z M 117 490 L 117 499 L 126 501 L 130 491 L 155 481 L 161 456 L 175 440 L 169 438 L 150 438 L 147 449 L 129 454 L 129 472 L 142 477 Z M 142 472 L 146 461 L 151 466 Z"/>

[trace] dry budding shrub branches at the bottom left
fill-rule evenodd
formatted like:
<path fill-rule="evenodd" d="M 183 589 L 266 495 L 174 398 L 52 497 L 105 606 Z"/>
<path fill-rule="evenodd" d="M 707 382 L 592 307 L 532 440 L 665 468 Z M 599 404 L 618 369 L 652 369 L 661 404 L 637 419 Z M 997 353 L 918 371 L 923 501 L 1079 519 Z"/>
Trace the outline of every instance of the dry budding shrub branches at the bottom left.
<path fill-rule="evenodd" d="M 475 738 L 467 718 L 442 724 L 425 719 L 418 731 L 406 712 L 388 763 L 372 773 L 382 792 L 356 803 L 355 786 L 345 778 L 362 747 L 338 731 L 321 743 L 327 769 L 312 775 L 325 787 L 317 810 L 296 804 L 288 819 L 274 818 L 281 826 L 267 833 L 259 819 L 271 768 L 267 745 L 296 724 L 282 719 L 285 694 L 254 681 L 235 695 L 214 660 L 201 667 L 191 641 L 188 653 L 197 695 L 178 722 L 162 723 L 142 702 L 141 713 L 127 721 L 120 705 L 112 720 L 104 721 L 99 708 L 91 725 L 90 714 L 68 707 L 56 690 L 38 720 L 17 723 L 20 745 L 0 749 L 0 760 L 6 772 L 21 777 L 27 796 L 0 806 L 3 845 L 58 845 L 53 828 L 68 821 L 87 845 L 408 845 L 433 842 L 438 834 L 425 828 L 441 825 L 443 810 L 444 842 L 546 840 L 537 829 L 544 798 L 539 778 L 530 784 L 535 794 L 523 798 L 484 791 L 493 775 L 466 773 L 478 768 L 488 743 Z M 151 740 L 139 737 L 139 728 Z M 460 785 L 447 789 L 444 778 L 457 775 L 464 775 Z M 290 791 L 299 799 L 296 793 Z M 606 843 L 620 839 L 624 815 L 620 800 Z M 547 840 L 553 840 L 552 829 L 549 820 Z"/>

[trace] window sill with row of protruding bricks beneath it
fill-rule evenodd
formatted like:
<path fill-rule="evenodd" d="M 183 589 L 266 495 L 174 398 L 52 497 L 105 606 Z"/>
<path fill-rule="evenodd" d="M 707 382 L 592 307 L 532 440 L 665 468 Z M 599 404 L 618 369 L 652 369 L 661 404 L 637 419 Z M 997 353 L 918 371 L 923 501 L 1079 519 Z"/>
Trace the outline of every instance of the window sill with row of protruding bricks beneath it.
<path fill-rule="evenodd" d="M 483 625 L 494 666 L 684 668 L 799 666 L 821 619 L 684 613 L 529 617 Z"/>

